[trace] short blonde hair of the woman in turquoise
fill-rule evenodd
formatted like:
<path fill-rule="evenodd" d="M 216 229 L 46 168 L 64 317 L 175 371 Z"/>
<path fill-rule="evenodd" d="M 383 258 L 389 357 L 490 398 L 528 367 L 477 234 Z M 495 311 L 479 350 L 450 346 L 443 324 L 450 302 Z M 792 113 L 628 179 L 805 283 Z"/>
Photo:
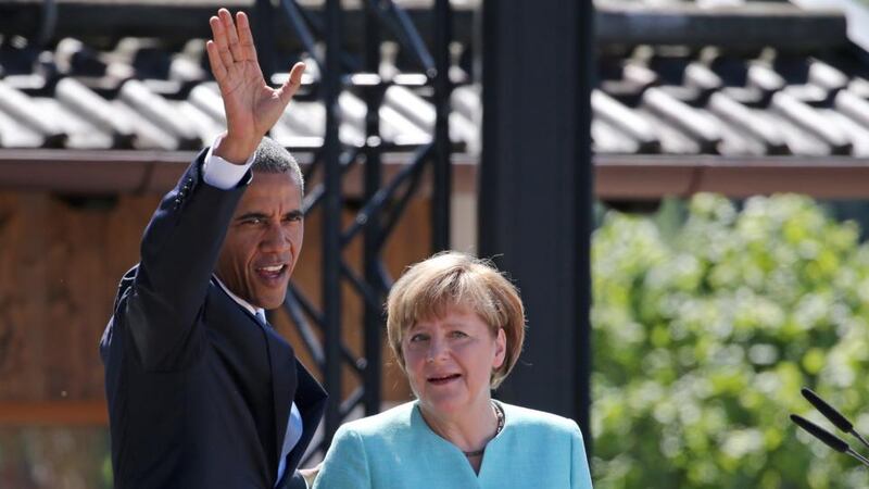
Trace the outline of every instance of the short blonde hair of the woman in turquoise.
<path fill-rule="evenodd" d="M 456 251 L 410 266 L 392 286 L 387 299 L 387 333 L 399 366 L 405 371 L 404 334 L 419 321 L 443 317 L 451 306 L 477 313 L 493 335 L 504 329 L 504 362 L 490 377 L 491 388 L 498 388 L 522 350 L 525 308 L 516 287 L 491 262 Z"/>

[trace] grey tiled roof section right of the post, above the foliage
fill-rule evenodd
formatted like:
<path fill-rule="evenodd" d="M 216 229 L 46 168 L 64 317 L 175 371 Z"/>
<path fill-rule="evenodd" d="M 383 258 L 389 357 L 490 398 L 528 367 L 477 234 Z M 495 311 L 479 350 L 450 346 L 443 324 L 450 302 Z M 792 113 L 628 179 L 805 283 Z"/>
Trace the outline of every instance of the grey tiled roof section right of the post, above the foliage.
<path fill-rule="evenodd" d="M 786 3 L 610 9 L 635 35 L 602 49 L 599 152 L 869 154 L 869 59 L 843 15 Z M 673 45 L 677 21 L 692 28 Z"/>

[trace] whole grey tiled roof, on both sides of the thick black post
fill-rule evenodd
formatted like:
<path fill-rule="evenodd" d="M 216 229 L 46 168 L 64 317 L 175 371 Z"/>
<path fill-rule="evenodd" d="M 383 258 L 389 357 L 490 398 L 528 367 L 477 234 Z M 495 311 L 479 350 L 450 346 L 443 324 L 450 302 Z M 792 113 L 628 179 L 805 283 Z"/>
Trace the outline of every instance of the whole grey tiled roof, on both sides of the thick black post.
<path fill-rule="evenodd" d="M 196 7 L 212 7 L 201 3 Z M 711 0 L 599 1 L 596 7 L 593 149 L 599 167 L 613 170 L 599 172 L 599 187 L 608 181 L 621 186 L 622 193 L 643 195 L 625 168 L 669 168 L 657 174 L 662 181 L 673 191 L 691 191 L 705 188 L 698 165 L 754 166 L 772 175 L 786 167 L 804 173 L 818 167 L 828 176 L 835 174 L 829 168 L 839 167 L 849 178 L 869 167 L 869 58 L 845 36 L 842 13 Z M 464 10 L 458 17 L 470 15 Z M 464 160 L 475 160 L 480 87 L 468 75 L 471 36 L 456 38 L 451 138 Z M 291 43 L 280 49 L 276 59 L 287 66 L 305 57 Z M 396 45 L 386 45 L 382 52 L 379 75 L 393 84 L 380 108 L 382 143 L 390 151 L 410 150 L 431 138 L 430 92 L 425 75 L 408 71 L 411 63 Z M 0 162 L 3 154 L 7 162 L 30 161 L 33 154 L 17 150 L 37 148 L 135 150 L 139 155 L 109 160 L 186 160 L 186 151 L 207 143 L 223 126 L 206 63 L 201 38 L 87 37 L 83 30 L 37 46 L 8 34 L 0 43 Z M 307 75 L 306 95 L 292 102 L 273 131 L 297 151 L 318 148 L 325 130 L 325 110 L 315 97 L 316 66 Z M 277 73 L 273 80 L 286 76 Z M 370 82 L 370 75 L 350 76 L 339 100 L 339 133 L 348 146 L 365 143 L 364 97 Z M 80 160 L 68 151 L 39 154 Z M 809 175 L 806 185 L 818 184 Z M 847 187 L 835 178 L 840 190 Z M 845 193 L 852 191 L 857 190 Z"/>

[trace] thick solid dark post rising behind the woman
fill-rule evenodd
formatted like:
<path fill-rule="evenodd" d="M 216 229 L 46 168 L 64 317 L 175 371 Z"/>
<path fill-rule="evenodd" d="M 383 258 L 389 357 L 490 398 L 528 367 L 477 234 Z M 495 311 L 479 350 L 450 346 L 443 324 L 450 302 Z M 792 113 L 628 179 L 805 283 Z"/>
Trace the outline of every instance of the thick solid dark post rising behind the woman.
<path fill-rule="evenodd" d="M 590 1 L 484 0 L 478 206 L 480 254 L 516 280 L 529 326 L 498 396 L 576 419 L 587 454 L 592 20 Z"/>

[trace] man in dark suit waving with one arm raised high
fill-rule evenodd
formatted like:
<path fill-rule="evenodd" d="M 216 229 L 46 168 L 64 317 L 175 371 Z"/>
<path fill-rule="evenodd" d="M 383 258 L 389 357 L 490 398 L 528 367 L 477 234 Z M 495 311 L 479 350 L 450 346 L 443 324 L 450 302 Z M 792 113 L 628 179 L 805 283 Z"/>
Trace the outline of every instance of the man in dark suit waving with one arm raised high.
<path fill-rule="evenodd" d="M 302 175 L 264 138 L 301 85 L 265 84 L 226 9 L 206 45 L 226 133 L 166 195 L 100 343 L 116 488 L 304 488 L 326 394 L 265 322 L 304 234 Z"/>

